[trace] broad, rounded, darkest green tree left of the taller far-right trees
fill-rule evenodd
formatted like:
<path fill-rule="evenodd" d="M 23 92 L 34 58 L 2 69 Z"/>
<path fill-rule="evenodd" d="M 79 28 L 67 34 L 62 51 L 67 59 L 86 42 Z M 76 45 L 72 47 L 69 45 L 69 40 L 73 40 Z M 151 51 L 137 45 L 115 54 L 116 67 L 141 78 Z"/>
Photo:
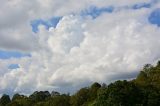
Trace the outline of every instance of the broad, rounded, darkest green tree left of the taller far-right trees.
<path fill-rule="evenodd" d="M 96 106 L 136 106 L 141 104 L 141 92 L 133 82 L 116 81 L 99 92 Z"/>

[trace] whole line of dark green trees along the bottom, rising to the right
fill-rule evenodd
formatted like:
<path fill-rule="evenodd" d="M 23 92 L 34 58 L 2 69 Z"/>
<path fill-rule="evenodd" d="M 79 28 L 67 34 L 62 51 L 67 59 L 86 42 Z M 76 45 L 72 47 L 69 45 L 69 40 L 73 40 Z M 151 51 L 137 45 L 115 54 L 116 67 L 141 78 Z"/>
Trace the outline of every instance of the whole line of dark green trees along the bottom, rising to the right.
<path fill-rule="evenodd" d="M 160 106 L 160 61 L 146 64 L 136 79 L 109 85 L 94 83 L 74 95 L 36 91 L 29 97 L 4 94 L 0 106 Z"/>

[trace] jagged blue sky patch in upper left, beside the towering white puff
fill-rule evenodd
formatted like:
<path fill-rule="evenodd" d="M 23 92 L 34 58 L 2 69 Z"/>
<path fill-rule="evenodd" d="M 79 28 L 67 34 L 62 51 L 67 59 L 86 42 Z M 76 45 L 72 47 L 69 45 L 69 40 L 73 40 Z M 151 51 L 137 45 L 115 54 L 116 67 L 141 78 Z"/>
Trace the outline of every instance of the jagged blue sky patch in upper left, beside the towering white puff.
<path fill-rule="evenodd" d="M 44 25 L 46 27 L 46 29 L 48 30 L 50 27 L 56 27 L 57 24 L 59 23 L 59 20 L 62 17 L 53 17 L 50 18 L 48 20 L 44 20 L 44 19 L 36 19 L 31 21 L 31 26 L 32 26 L 32 31 L 37 33 L 38 32 L 38 26 L 39 25 Z"/>

